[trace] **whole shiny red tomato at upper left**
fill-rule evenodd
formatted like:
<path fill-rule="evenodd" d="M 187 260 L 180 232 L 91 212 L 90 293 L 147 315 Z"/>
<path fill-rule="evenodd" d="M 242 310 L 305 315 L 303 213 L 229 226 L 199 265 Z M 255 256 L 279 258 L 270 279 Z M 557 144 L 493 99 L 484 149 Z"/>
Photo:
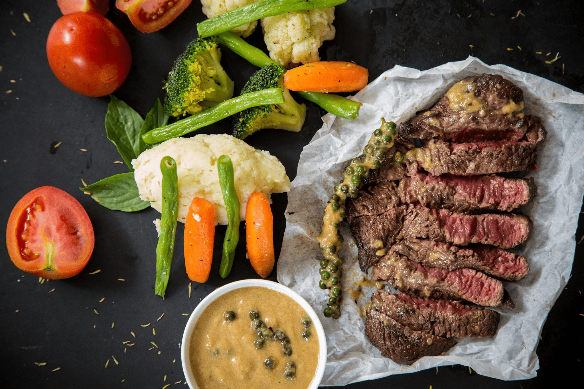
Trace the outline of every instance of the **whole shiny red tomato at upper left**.
<path fill-rule="evenodd" d="M 132 64 L 130 45 L 121 31 L 92 11 L 68 13 L 53 24 L 47 57 L 65 86 L 94 97 L 116 90 Z"/>

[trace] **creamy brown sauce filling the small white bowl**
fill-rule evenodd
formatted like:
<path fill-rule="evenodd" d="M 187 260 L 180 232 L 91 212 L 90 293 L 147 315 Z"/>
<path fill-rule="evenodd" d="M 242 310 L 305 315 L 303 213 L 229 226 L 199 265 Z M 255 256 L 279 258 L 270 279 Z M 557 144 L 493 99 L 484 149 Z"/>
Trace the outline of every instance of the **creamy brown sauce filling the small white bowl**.
<path fill-rule="evenodd" d="M 223 313 L 234 311 L 235 320 L 225 321 Z M 279 328 L 290 338 L 292 355 L 285 356 L 280 341 L 265 341 L 256 349 L 258 338 L 251 327 L 249 311 L 273 330 Z M 308 388 L 317 370 L 319 341 L 314 324 L 300 323 L 308 314 L 290 297 L 276 290 L 249 287 L 232 290 L 218 297 L 201 314 L 190 343 L 190 358 L 197 385 L 203 388 Z M 311 337 L 305 340 L 304 331 Z M 264 365 L 266 358 L 275 362 L 273 369 Z M 296 376 L 284 377 L 286 363 L 294 362 Z"/>

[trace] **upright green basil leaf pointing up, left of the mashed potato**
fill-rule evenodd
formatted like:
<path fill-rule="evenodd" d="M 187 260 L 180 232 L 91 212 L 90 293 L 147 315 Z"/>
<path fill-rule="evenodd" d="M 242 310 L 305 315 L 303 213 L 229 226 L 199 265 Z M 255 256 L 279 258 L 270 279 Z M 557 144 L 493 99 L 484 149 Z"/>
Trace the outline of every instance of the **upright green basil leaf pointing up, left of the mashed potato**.
<path fill-rule="evenodd" d="M 116 145 L 124 162 L 131 171 L 134 171 L 131 160 L 146 149 L 140 132 L 144 120 L 128 104 L 117 99 L 113 94 L 110 94 L 110 99 L 105 121 L 107 139 Z"/>

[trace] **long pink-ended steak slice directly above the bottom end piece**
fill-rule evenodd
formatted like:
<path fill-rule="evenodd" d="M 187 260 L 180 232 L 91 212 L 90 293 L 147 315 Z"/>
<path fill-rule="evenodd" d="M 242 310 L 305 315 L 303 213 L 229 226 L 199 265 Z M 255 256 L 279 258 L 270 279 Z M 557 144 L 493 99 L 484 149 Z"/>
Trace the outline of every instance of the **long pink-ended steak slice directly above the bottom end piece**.
<path fill-rule="evenodd" d="M 498 279 L 473 269 L 426 268 L 395 252 L 377 262 L 373 279 L 425 298 L 465 300 L 486 307 L 515 307 Z"/>

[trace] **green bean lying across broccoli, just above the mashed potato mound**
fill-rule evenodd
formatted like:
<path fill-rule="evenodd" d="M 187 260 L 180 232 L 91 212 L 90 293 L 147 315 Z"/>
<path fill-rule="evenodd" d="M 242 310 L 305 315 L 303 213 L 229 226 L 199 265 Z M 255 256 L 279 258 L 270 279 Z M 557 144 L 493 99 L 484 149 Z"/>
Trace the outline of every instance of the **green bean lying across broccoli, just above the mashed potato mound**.
<path fill-rule="evenodd" d="M 213 124 L 247 108 L 264 104 L 284 104 L 281 88 L 263 89 L 259 92 L 245 93 L 233 99 L 225 100 L 214 107 L 207 108 L 196 115 L 163 125 L 142 135 L 145 143 L 159 143 L 178 138 L 206 125 Z"/>

